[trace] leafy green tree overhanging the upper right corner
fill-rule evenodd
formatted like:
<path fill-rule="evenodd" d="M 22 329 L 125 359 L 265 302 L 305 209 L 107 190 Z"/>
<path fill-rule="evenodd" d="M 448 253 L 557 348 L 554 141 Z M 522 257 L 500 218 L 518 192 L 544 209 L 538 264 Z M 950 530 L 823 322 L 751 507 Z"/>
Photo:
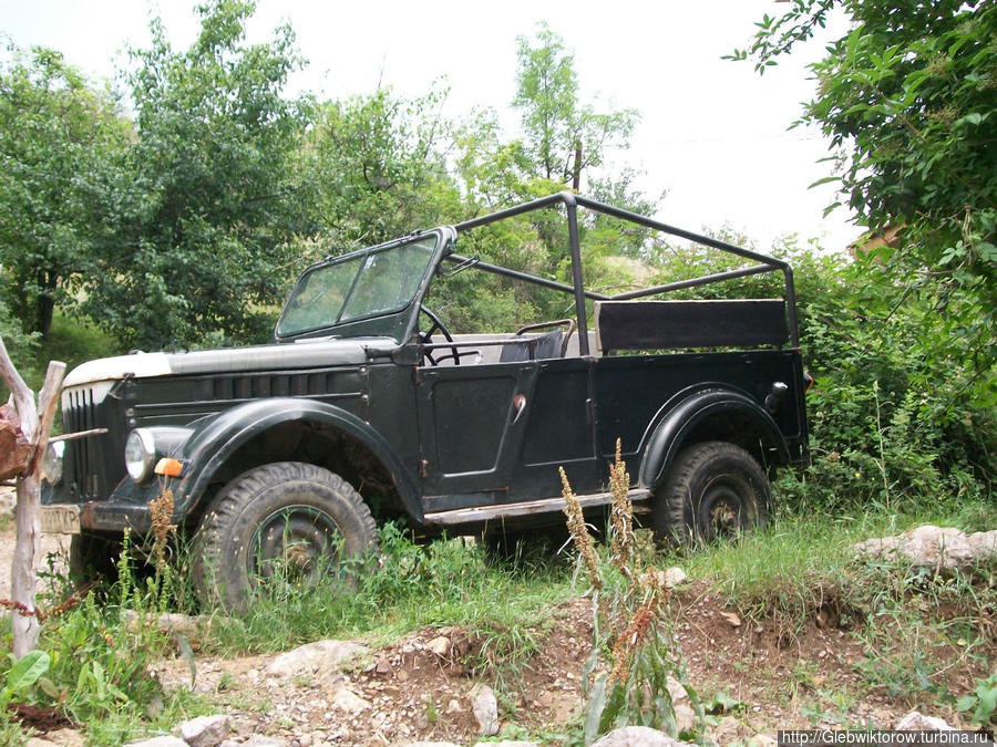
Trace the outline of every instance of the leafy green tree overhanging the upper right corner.
<path fill-rule="evenodd" d="M 733 58 L 763 72 L 836 8 L 851 30 L 812 66 L 819 87 L 802 118 L 845 154 L 826 180 L 870 229 L 903 227 L 901 247 L 880 250 L 886 267 L 909 292 L 933 294 L 936 312 L 960 308 L 958 319 L 948 314 L 955 349 L 988 371 L 997 357 L 997 4 L 794 0 Z"/>

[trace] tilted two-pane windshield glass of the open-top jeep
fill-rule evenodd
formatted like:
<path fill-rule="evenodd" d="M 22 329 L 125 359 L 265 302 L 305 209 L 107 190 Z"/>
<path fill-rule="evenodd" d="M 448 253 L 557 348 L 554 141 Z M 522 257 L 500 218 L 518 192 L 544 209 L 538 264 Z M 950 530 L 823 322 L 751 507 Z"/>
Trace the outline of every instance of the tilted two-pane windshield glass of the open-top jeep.
<path fill-rule="evenodd" d="M 371 249 L 321 264 L 301 277 L 277 334 L 288 335 L 404 309 L 425 277 L 436 236 Z"/>

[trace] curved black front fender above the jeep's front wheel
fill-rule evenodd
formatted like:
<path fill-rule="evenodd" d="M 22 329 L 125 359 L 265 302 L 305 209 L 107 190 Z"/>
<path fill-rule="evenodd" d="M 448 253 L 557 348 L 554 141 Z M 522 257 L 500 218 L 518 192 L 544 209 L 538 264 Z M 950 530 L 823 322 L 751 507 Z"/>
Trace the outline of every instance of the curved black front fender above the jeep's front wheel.
<path fill-rule="evenodd" d="M 361 444 L 391 476 L 405 510 L 422 521 L 422 504 L 412 477 L 381 434 L 340 407 L 314 400 L 271 397 L 226 409 L 194 430 L 181 458 L 184 476 L 174 489 L 174 516 L 186 516 L 204 498 L 214 476 L 250 439 L 286 423 L 311 423 L 339 430 Z"/>

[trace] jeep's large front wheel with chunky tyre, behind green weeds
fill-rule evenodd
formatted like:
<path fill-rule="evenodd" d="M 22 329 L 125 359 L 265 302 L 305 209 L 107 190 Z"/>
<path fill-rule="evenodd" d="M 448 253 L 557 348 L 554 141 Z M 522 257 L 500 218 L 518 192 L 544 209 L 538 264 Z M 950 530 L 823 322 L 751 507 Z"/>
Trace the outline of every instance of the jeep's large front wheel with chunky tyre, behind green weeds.
<path fill-rule="evenodd" d="M 198 596 L 234 611 L 267 584 L 349 583 L 358 559 L 378 546 L 360 495 L 315 465 L 280 461 L 250 469 L 215 498 L 198 530 Z"/>

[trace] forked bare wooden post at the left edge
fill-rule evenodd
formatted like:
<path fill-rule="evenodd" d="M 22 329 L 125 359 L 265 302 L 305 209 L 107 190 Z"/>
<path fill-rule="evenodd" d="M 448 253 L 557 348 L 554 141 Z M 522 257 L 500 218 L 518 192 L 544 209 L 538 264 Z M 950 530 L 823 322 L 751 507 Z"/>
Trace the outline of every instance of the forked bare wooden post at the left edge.
<path fill-rule="evenodd" d="M 39 528 L 41 470 L 42 459 L 49 446 L 49 433 L 55 409 L 59 406 L 59 392 L 65 363 L 52 361 L 45 372 L 38 404 L 34 393 L 28 388 L 21 374 L 14 367 L 7 346 L 0 339 L 0 377 L 10 390 L 11 400 L 18 411 L 21 433 L 31 444 L 24 470 L 18 476 L 18 502 L 16 507 L 18 538 L 14 544 L 13 563 L 11 564 L 11 595 L 13 602 L 27 610 L 11 613 L 13 631 L 13 653 L 20 658 L 38 647 L 38 619 L 34 616 L 35 575 L 34 566 L 41 549 L 41 531 Z"/>

